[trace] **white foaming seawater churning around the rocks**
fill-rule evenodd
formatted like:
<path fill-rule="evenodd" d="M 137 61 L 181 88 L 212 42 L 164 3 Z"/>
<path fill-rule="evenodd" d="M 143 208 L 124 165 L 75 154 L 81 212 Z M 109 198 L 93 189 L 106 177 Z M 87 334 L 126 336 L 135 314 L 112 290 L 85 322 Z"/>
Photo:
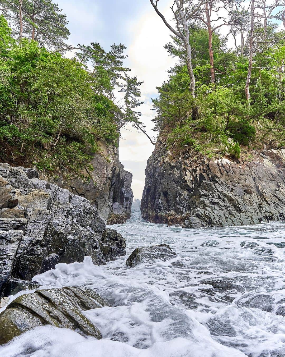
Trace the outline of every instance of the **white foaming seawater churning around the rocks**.
<path fill-rule="evenodd" d="M 86 311 L 103 339 L 50 326 L 0 348 L 1 357 L 285 356 L 285 222 L 183 229 L 134 212 L 116 225 L 127 253 L 167 243 L 177 258 L 128 268 L 58 264 L 36 279 L 45 287 L 88 285 L 113 307 Z"/>

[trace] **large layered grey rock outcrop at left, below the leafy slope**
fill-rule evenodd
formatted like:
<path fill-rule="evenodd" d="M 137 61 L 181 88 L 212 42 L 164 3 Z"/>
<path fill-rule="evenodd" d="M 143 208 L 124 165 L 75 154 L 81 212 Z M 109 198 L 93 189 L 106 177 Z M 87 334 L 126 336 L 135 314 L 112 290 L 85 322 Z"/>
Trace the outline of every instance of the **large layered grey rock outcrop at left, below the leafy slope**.
<path fill-rule="evenodd" d="M 0 181 L 6 182 L 0 197 L 10 185 L 17 198 L 15 207 L 0 209 L 0 297 L 15 291 L 17 279 L 30 281 L 59 262 L 91 256 L 100 265 L 125 255 L 124 238 L 114 230 L 105 232 L 105 223 L 86 198 L 28 173 L 32 178 L 19 167 L 0 164 Z"/>

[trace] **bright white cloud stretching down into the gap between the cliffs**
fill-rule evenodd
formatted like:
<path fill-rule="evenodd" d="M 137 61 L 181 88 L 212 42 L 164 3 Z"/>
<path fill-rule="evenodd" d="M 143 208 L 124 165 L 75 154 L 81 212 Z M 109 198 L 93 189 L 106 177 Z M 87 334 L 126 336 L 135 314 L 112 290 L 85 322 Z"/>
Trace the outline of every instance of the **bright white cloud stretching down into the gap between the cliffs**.
<path fill-rule="evenodd" d="M 169 5 L 167 8 L 164 9 L 164 14 L 171 17 Z M 138 80 L 144 81 L 141 85 L 142 100 L 145 100 L 140 107 L 141 121 L 152 137 L 155 133 L 152 131 L 154 123 L 151 119 L 154 118 L 155 112 L 151 110 L 150 98 L 156 96 L 156 87 L 167 79 L 167 69 L 175 63 L 164 49 L 164 44 L 170 40 L 169 30 L 150 3 L 143 13 L 129 22 L 127 30 L 131 34 L 127 64 L 131 68 L 131 75 L 137 75 Z M 128 168 L 133 173 L 132 188 L 135 198 L 141 198 L 145 180 L 144 170 L 153 150 L 154 146 L 149 139 L 143 133 L 139 134 L 131 125 L 121 129 L 119 157 L 123 164 L 124 161 L 128 161 Z M 133 164 L 130 161 L 133 161 Z M 141 170 L 136 169 L 138 162 Z"/>

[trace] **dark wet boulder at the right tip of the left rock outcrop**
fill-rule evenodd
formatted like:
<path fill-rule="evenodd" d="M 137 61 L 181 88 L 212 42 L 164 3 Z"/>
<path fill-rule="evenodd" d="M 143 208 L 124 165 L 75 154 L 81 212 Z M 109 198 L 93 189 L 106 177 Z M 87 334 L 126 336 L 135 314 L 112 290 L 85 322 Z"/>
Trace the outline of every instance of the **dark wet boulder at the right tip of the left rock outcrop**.
<path fill-rule="evenodd" d="M 102 235 L 101 250 L 107 262 L 114 260 L 116 256 L 126 255 L 126 240 L 116 230 L 107 228 Z"/>

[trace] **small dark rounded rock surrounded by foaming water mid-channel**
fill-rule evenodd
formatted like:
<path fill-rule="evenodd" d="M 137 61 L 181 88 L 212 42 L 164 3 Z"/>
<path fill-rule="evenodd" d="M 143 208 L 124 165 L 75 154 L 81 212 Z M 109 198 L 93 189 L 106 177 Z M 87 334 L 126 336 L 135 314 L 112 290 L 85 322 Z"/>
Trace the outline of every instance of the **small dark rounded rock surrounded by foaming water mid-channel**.
<path fill-rule="evenodd" d="M 176 258 L 177 255 L 167 244 L 158 244 L 151 247 L 136 248 L 126 261 L 126 265 L 134 267 L 142 262 L 149 262 L 154 259 L 166 261 Z"/>

